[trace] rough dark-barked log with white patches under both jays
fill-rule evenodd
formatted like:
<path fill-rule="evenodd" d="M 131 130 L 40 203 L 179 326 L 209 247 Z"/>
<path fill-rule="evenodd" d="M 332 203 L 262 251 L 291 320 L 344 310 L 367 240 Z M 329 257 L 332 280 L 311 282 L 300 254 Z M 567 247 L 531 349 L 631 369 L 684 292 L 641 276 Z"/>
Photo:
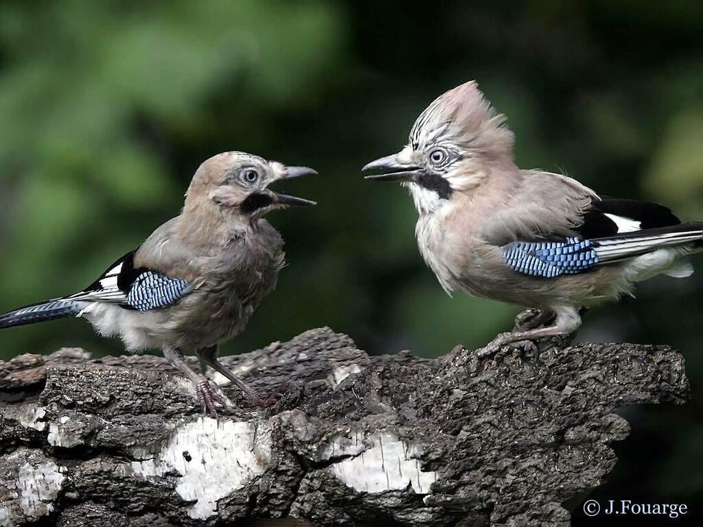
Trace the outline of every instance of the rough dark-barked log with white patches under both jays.
<path fill-rule="evenodd" d="M 628 434 L 614 410 L 684 403 L 688 380 L 669 346 L 538 346 L 423 360 L 310 330 L 224 358 L 288 389 L 253 410 L 212 375 L 219 422 L 161 357 L 18 356 L 0 362 L 0 525 L 566 526 Z"/>

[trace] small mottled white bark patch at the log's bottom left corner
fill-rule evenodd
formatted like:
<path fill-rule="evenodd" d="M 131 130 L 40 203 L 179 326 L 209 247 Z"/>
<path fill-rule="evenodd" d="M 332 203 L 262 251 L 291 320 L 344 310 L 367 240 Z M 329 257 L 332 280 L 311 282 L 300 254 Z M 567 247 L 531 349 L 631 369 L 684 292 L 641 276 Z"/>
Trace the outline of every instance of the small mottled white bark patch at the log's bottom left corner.
<path fill-rule="evenodd" d="M 27 518 L 39 518 L 53 511 L 63 480 L 63 467 L 53 461 L 23 464 L 18 471 L 17 488 L 20 490 L 20 507 Z"/>

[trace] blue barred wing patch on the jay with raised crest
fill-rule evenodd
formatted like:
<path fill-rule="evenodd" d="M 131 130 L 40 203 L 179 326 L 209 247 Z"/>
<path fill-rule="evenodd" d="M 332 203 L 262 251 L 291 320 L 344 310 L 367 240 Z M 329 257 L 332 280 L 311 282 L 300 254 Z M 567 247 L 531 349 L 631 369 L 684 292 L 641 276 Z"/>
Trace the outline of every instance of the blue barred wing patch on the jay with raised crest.
<path fill-rule="evenodd" d="M 512 242 L 503 247 L 503 258 L 513 271 L 542 278 L 575 275 L 598 263 L 591 240 L 578 236 L 563 242 Z"/>

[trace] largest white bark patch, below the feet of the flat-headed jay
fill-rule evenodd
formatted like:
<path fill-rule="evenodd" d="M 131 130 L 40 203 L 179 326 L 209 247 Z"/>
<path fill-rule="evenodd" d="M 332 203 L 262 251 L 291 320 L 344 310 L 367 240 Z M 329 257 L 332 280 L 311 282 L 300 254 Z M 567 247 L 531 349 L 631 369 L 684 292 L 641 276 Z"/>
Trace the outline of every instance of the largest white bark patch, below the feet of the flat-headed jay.
<path fill-rule="evenodd" d="M 200 417 L 177 428 L 157 457 L 135 461 L 131 471 L 146 478 L 178 471 L 176 492 L 195 501 L 191 518 L 207 519 L 217 501 L 264 474 L 271 464 L 271 430 L 250 422 L 221 422 Z"/>

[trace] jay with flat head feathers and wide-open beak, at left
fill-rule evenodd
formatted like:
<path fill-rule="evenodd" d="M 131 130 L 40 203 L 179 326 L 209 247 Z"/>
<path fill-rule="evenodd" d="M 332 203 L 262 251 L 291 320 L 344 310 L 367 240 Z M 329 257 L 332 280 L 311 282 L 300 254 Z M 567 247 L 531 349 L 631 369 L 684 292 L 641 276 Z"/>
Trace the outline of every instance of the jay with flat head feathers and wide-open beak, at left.
<path fill-rule="evenodd" d="M 219 362 L 217 346 L 244 329 L 283 267 L 283 240 L 262 216 L 314 204 L 269 185 L 307 174 L 316 171 L 244 152 L 211 157 L 195 172 L 179 216 L 83 291 L 0 315 L 0 329 L 86 318 L 101 334 L 118 335 L 129 351 L 161 348 L 193 381 L 203 408 L 217 415 L 215 403 L 224 400 L 188 367 L 182 350 L 195 349 L 204 363 L 252 396 Z"/>

